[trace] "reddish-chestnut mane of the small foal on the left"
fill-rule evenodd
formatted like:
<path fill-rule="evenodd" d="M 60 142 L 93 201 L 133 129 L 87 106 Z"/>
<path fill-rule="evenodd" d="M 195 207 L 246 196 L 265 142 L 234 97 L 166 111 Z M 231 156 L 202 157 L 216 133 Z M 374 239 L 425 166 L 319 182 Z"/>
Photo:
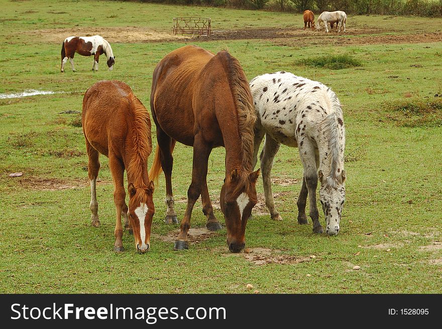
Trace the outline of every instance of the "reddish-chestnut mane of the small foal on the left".
<path fill-rule="evenodd" d="M 134 181 L 132 183 L 136 188 L 135 200 L 146 203 L 146 190 L 149 188 L 146 183 L 149 184 L 149 182 L 143 180 L 143 171 L 147 170 L 147 158 L 152 152 L 152 137 L 148 134 L 151 125 L 150 117 L 146 107 L 133 93 L 129 95 L 129 102 L 134 118 L 132 127 L 134 139 L 133 153 L 127 170 L 133 175 Z M 149 176 L 147 177 L 149 179 Z"/>

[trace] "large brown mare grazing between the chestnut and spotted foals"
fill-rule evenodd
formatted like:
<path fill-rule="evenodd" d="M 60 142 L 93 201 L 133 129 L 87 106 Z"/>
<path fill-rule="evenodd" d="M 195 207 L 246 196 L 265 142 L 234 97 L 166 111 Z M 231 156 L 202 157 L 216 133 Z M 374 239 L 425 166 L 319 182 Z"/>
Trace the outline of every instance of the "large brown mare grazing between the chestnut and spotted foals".
<path fill-rule="evenodd" d="M 195 46 L 176 49 L 156 66 L 150 99 L 158 147 L 149 176 L 158 180 L 164 170 L 166 223 L 177 223 L 171 181 L 173 148 L 176 141 L 193 146 L 192 182 L 174 249 L 188 249 L 190 216 L 200 195 L 207 229 L 222 228 L 213 215 L 206 176 L 212 148 L 224 146 L 226 176 L 220 205 L 226 220 L 229 249 L 240 252 L 245 246 L 247 220 L 257 202 L 259 175 L 259 170 L 252 172 L 256 116 L 240 63 L 227 51 L 214 55 Z"/>

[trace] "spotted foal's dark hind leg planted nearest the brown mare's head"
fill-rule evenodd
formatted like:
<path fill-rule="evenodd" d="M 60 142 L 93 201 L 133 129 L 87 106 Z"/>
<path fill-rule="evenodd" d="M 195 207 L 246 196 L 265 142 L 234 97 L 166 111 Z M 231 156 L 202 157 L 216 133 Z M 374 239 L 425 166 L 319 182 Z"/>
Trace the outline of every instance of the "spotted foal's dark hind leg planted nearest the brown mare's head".
<path fill-rule="evenodd" d="M 275 208 L 275 200 L 272 194 L 272 182 L 270 180 L 270 171 L 272 170 L 273 160 L 279 150 L 279 143 L 275 141 L 269 134 L 266 134 L 263 150 L 261 151 L 261 170 L 263 175 L 264 196 L 266 198 L 266 205 L 270 211 L 272 220 L 282 221 L 278 210 Z"/>

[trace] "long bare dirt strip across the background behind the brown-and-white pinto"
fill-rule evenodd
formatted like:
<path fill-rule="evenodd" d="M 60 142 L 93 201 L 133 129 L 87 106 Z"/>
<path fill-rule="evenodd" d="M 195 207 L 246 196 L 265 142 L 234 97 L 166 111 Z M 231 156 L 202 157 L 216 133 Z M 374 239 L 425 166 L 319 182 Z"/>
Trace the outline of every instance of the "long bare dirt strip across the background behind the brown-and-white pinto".
<path fill-rule="evenodd" d="M 391 34 L 386 34 L 391 33 Z M 305 47 L 311 45 L 368 45 L 441 42 L 442 32 L 395 34 L 385 29 L 349 28 L 345 34 L 336 31 L 325 34 L 303 29 L 256 28 L 240 30 L 213 30 L 210 36 L 173 35 L 172 31 L 156 31 L 144 27 L 78 27 L 25 31 L 22 34 L 36 37 L 49 43 L 62 43 L 68 36 L 101 35 L 111 43 L 163 42 L 173 40 L 271 40 L 277 45 Z"/>

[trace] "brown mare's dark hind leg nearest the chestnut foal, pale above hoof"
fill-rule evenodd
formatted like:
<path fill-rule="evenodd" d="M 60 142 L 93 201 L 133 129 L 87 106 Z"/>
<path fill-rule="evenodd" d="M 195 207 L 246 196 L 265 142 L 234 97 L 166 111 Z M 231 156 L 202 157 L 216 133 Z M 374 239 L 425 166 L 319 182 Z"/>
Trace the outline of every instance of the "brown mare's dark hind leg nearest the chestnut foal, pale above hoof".
<path fill-rule="evenodd" d="M 170 151 L 172 139 L 159 128 L 157 125 L 157 141 L 161 150 L 161 167 L 163 168 L 164 177 L 166 178 L 166 217 L 164 222 L 166 224 L 175 223 L 178 224 L 178 218 L 174 209 L 175 201 L 173 199 L 172 192 L 172 168 L 173 168 L 173 156 Z"/>

